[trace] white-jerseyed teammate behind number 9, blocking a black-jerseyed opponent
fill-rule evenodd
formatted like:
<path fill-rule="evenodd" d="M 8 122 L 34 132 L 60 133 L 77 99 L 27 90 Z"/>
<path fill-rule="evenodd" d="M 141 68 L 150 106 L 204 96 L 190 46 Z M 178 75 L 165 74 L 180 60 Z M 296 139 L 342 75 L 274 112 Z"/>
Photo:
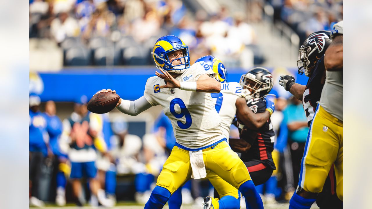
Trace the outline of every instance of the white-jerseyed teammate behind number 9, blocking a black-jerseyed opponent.
<path fill-rule="evenodd" d="M 227 82 L 227 70 L 221 60 L 212 55 L 207 55 L 195 61 L 195 63 L 197 62 L 208 64 L 214 73 L 216 73 L 215 79 L 221 83 L 221 92 L 211 93 L 211 97 L 214 99 L 215 109 L 221 118 L 222 132 L 227 139 L 230 136 L 230 126 L 235 118 L 235 114 L 240 121 L 247 124 L 253 130 L 259 129 L 266 124 L 274 110 L 271 100 L 266 99 L 267 111 L 255 114 L 247 106 L 245 98 L 249 97 L 246 94 L 250 94 L 250 91 L 244 91 L 242 93 L 240 83 Z M 211 196 L 205 197 L 203 203 L 204 209 L 240 208 L 240 193 L 235 187 L 222 180 L 213 171 L 207 171 L 207 177 L 217 191 L 215 193 L 215 197 L 217 198 L 212 198 Z"/>

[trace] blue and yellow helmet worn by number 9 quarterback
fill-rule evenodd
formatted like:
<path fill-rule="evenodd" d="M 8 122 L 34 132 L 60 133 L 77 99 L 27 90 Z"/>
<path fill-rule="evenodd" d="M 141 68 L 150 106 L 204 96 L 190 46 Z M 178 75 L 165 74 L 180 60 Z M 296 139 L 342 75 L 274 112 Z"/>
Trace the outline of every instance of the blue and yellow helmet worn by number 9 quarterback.
<path fill-rule="evenodd" d="M 183 57 L 169 61 L 170 52 L 182 50 Z M 190 67 L 189 47 L 177 36 L 167 35 L 159 38 L 151 52 L 157 68 L 161 68 L 172 73 L 183 73 Z M 179 60 L 181 64 L 174 65 L 173 62 Z"/>

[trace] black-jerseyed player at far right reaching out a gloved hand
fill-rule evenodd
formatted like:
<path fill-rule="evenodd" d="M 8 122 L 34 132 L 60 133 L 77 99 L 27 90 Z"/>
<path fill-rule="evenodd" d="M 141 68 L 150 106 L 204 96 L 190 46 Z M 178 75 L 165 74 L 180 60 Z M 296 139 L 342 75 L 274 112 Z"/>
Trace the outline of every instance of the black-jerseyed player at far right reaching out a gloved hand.
<path fill-rule="evenodd" d="M 309 127 L 323 90 L 325 82 L 324 53 L 331 42 L 331 32 L 321 30 L 309 35 L 299 49 L 298 74 L 305 73 L 309 77 L 306 86 L 295 83 L 295 79 L 291 75 L 280 76 L 279 84 L 297 99 L 302 100 Z M 320 209 L 342 208 L 342 201 L 337 198 L 335 182 L 336 176 L 332 166 L 323 191 L 317 196 L 317 205 Z"/>

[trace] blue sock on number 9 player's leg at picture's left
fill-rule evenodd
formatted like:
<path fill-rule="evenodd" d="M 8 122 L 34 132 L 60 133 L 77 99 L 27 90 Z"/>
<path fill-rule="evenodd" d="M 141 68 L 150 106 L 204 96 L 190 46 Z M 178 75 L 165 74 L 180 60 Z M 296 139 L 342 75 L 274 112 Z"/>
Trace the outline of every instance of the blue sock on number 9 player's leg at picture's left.
<path fill-rule="evenodd" d="M 144 209 L 161 209 L 167 203 L 170 196 L 171 194 L 166 188 L 155 186 Z"/>

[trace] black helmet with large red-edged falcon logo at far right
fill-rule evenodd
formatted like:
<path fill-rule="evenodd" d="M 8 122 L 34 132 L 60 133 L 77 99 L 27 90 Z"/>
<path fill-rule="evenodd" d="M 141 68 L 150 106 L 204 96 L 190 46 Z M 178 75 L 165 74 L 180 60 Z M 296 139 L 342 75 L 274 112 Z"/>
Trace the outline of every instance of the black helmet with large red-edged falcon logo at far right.
<path fill-rule="evenodd" d="M 302 75 L 305 73 L 306 76 L 310 77 L 311 69 L 324 55 L 331 42 L 331 32 L 328 30 L 311 33 L 298 50 L 298 74 Z"/>

